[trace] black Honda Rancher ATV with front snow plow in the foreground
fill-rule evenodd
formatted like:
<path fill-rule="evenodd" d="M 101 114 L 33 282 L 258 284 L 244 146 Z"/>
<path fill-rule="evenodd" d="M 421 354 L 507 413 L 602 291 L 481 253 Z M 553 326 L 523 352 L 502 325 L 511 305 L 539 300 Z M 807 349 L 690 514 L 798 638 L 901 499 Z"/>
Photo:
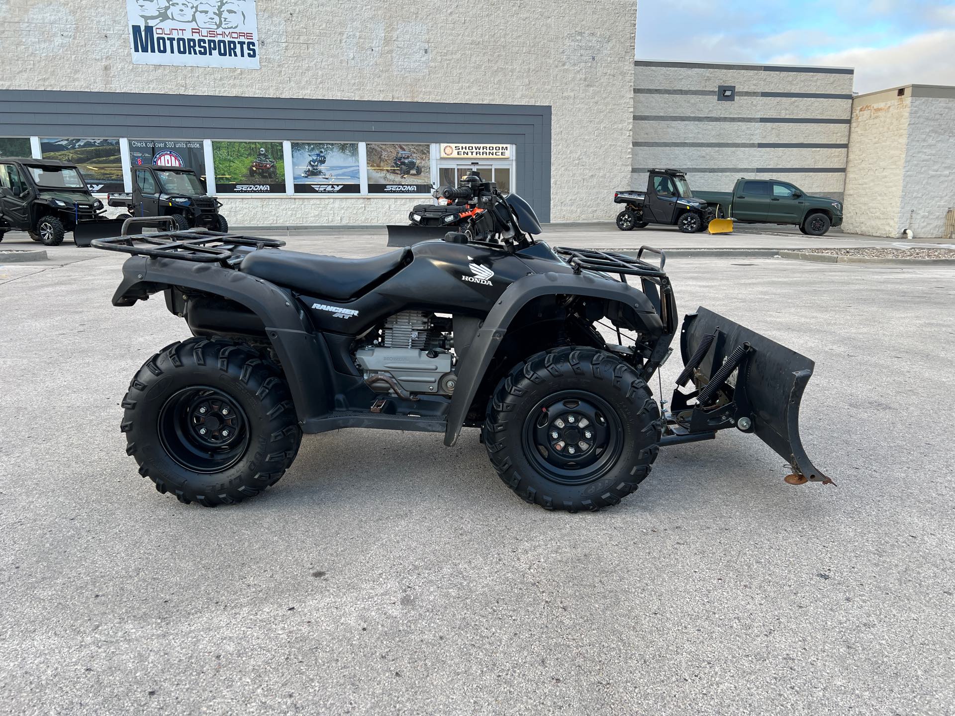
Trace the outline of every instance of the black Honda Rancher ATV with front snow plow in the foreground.
<path fill-rule="evenodd" d="M 519 196 L 490 204 L 482 239 L 370 259 L 199 229 L 95 242 L 133 255 L 114 305 L 161 292 L 192 333 L 123 398 L 139 474 L 214 507 L 274 485 L 303 432 L 440 432 L 451 446 L 472 427 L 508 487 L 573 512 L 633 492 L 661 446 L 736 428 L 790 463 L 790 482 L 830 481 L 799 441 L 812 361 L 705 308 L 681 327 L 661 251 L 552 249 Z M 648 381 L 678 333 L 677 383 L 693 388 L 667 406 Z"/>

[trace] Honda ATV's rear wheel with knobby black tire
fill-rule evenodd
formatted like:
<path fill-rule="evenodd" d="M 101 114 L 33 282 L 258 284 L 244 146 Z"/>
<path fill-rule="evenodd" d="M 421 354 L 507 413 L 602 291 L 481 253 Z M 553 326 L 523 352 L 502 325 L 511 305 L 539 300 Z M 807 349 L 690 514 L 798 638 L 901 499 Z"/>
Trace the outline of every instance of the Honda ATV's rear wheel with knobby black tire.
<path fill-rule="evenodd" d="M 139 474 L 180 502 L 241 502 L 274 485 L 302 432 L 274 363 L 236 341 L 190 338 L 139 369 L 120 430 Z"/>

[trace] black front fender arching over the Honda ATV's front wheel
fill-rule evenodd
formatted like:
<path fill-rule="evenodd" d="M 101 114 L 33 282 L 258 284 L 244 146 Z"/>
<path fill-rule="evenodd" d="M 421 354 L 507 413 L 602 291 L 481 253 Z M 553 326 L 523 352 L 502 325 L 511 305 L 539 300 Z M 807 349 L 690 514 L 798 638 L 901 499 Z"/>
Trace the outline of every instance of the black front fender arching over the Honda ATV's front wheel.
<path fill-rule="evenodd" d="M 444 433 L 444 444 L 455 444 L 464 425 L 471 403 L 477 395 L 477 389 L 484 373 L 494 358 L 501 340 L 507 333 L 511 321 L 528 302 L 541 296 L 570 294 L 574 296 L 592 296 L 621 303 L 629 303 L 638 318 L 643 319 L 647 332 L 653 339 L 659 338 L 664 331 L 663 322 L 653 304 L 642 292 L 612 279 L 592 274 L 539 273 L 525 276 L 510 284 L 500 295 L 498 303 L 487 314 L 467 353 L 461 359 L 461 368 L 457 373 L 457 383 L 451 406 L 448 410 L 448 425 Z"/>

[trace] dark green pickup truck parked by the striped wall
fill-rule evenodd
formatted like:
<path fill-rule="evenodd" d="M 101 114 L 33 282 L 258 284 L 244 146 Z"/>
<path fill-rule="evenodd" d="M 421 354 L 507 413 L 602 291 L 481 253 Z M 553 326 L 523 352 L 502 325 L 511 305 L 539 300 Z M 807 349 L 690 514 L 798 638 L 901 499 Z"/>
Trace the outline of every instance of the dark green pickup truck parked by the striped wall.
<path fill-rule="evenodd" d="M 717 217 L 740 223 L 795 224 L 810 236 L 822 236 L 842 223 L 842 202 L 813 197 L 779 179 L 737 179 L 732 192 L 693 190 L 695 199 L 714 207 Z"/>

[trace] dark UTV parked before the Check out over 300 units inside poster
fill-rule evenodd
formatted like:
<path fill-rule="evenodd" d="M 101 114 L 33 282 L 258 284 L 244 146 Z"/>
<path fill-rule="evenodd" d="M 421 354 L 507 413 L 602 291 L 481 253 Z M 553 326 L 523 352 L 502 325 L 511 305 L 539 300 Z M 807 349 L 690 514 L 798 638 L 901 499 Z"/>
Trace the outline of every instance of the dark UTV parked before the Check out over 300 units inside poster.
<path fill-rule="evenodd" d="M 110 194 L 110 206 L 121 206 L 134 217 L 172 217 L 180 230 L 196 226 L 228 231 L 229 224 L 219 213 L 222 202 L 205 193 L 202 181 L 192 169 L 171 166 L 134 166 L 132 194 Z"/>

